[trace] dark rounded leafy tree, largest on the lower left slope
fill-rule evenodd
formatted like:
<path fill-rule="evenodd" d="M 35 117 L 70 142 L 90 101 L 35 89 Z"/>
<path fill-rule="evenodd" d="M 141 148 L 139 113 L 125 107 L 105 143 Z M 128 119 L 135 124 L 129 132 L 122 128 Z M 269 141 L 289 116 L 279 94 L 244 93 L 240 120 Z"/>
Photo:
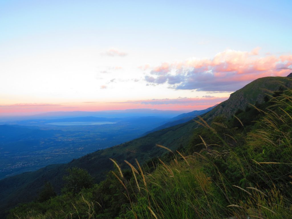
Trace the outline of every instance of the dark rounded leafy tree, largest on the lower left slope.
<path fill-rule="evenodd" d="M 72 169 L 67 169 L 67 171 L 69 172 L 69 175 L 63 177 L 65 185 L 62 192 L 72 192 L 73 194 L 77 194 L 83 188 L 93 187 L 93 178 L 86 170 L 73 167 Z"/>

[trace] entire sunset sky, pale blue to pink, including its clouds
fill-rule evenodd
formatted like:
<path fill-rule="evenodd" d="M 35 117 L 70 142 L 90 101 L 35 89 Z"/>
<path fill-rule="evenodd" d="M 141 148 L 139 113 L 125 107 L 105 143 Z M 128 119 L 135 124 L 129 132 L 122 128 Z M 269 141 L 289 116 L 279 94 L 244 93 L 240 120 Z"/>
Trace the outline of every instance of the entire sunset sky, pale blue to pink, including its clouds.
<path fill-rule="evenodd" d="M 292 72 L 292 1 L 0 0 L 0 115 L 200 110 Z"/>

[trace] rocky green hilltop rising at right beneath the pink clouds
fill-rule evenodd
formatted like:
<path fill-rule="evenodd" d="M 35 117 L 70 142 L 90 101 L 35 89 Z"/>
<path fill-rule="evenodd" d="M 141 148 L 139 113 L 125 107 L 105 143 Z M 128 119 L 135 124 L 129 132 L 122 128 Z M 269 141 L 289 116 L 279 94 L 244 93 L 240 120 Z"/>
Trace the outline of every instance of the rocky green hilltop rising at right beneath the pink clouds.
<path fill-rule="evenodd" d="M 289 75 L 292 77 L 292 73 Z M 279 90 L 280 87 L 283 87 L 284 90 L 292 88 L 292 78 L 264 77 L 256 79 L 232 93 L 228 100 L 220 103 L 206 116 L 208 116 L 208 120 L 219 114 L 223 114 L 227 118 L 231 117 L 238 109 L 245 110 L 249 104 L 263 103 L 267 94 L 271 95 L 274 91 Z"/>

